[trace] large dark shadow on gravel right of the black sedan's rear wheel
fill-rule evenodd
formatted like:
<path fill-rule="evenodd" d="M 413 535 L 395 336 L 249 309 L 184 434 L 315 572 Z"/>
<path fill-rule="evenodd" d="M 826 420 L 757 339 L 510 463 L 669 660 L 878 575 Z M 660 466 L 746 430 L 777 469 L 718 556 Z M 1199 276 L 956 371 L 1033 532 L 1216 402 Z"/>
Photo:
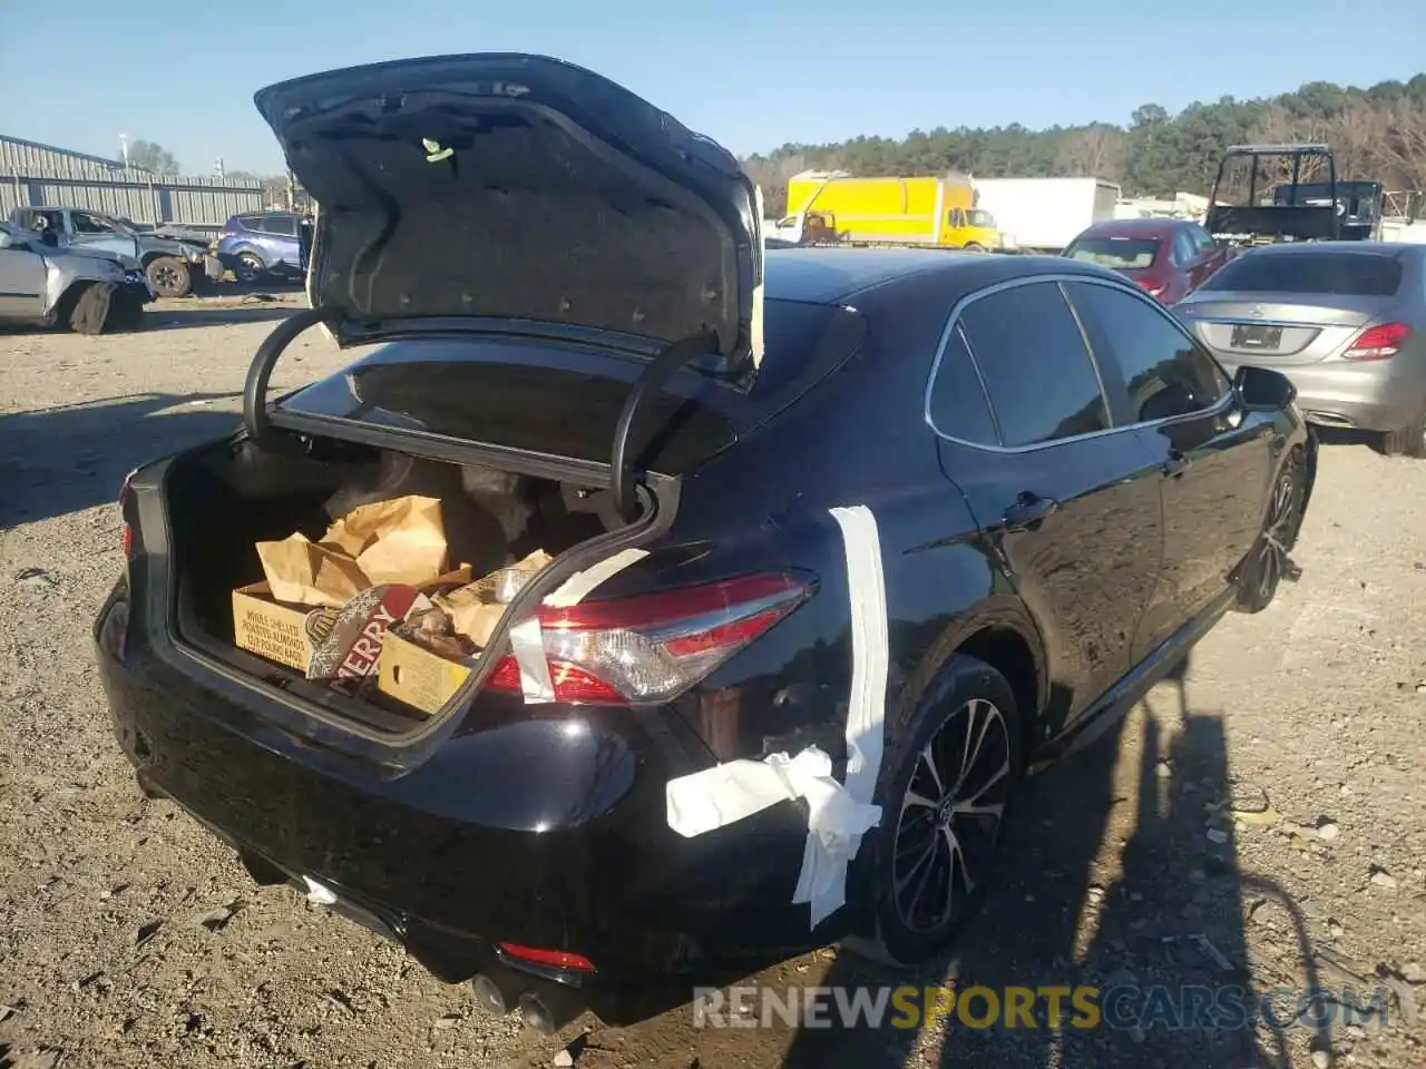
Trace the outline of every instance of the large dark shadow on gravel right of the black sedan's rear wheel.
<path fill-rule="evenodd" d="M 841 952 L 826 975 L 793 981 L 848 991 L 944 985 L 954 1002 L 941 1021 L 893 1006 L 877 1028 L 846 1028 L 824 1012 L 827 1026 L 791 1033 L 784 1069 L 1288 1065 L 1293 1013 L 1279 1012 L 1283 1026 L 1255 1023 L 1261 999 L 1222 720 L 1191 708 L 1185 671 L 1085 751 L 1024 784 L 991 892 L 951 958 L 908 971 Z M 1306 932 L 1295 932 L 1313 989 Z M 1011 988 L 1035 992 L 1032 1022 L 1008 1026 Z M 1061 989 L 1058 1028 L 1047 988 Z M 1097 1012 L 1074 1002 L 1079 988 L 1095 989 L 1087 1005 Z M 1329 1049 L 1320 1002 L 1316 1009 L 1305 1015 L 1319 1023 L 1312 1048 Z"/>

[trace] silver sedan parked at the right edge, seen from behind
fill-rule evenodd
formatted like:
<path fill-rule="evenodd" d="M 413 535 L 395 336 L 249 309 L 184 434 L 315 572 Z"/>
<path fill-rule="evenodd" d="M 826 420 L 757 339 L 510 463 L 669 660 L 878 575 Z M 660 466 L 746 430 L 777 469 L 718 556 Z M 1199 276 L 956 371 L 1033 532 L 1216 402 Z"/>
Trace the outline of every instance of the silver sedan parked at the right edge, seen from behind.
<path fill-rule="evenodd" d="M 1313 423 L 1426 456 L 1426 245 L 1265 245 L 1174 306 L 1232 373 L 1281 371 Z"/>

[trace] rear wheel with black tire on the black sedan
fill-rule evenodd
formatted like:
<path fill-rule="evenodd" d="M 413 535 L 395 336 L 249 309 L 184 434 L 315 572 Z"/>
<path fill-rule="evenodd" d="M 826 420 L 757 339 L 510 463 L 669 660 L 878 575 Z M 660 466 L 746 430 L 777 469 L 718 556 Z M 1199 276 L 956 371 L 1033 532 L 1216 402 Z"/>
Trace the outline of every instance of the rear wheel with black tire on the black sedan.
<path fill-rule="evenodd" d="M 1024 771 L 1024 731 L 1005 677 L 955 654 L 897 735 L 877 790 L 883 820 L 868 841 L 870 871 L 857 872 L 873 934 L 843 945 L 906 966 L 941 955 L 985 894 Z M 977 811 L 963 808 L 971 805 Z"/>

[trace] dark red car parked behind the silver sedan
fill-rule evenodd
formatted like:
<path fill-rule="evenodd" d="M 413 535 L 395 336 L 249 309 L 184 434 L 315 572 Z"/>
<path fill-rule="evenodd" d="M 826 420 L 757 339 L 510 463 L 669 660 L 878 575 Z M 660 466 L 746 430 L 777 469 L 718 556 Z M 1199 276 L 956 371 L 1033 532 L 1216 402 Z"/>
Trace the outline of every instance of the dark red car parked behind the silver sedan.
<path fill-rule="evenodd" d="M 1112 268 L 1164 305 L 1198 289 L 1232 255 L 1191 220 L 1104 220 L 1070 242 L 1064 255 Z"/>

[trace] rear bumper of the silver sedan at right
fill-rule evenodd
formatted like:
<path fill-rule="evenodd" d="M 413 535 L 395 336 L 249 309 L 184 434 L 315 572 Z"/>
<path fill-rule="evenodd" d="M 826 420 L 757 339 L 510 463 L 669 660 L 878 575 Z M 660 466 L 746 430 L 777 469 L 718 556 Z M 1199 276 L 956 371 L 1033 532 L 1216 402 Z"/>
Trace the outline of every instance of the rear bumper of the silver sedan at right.
<path fill-rule="evenodd" d="M 1229 375 L 1236 368 L 1219 353 Z M 1407 361 L 1261 365 L 1281 371 L 1298 388 L 1309 422 L 1359 430 L 1396 430 L 1426 412 L 1426 369 Z"/>

